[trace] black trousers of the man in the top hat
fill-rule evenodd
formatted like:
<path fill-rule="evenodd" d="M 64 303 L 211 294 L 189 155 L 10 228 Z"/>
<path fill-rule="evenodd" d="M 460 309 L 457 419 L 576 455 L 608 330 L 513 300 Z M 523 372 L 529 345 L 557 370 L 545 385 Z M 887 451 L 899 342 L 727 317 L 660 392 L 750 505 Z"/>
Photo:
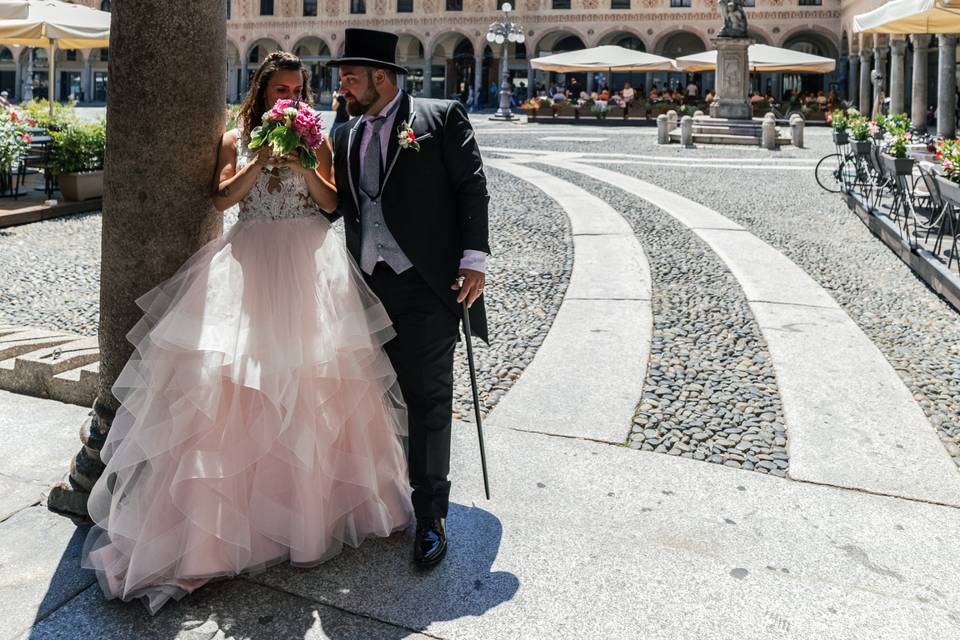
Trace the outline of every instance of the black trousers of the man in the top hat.
<path fill-rule="evenodd" d="M 415 267 L 398 275 L 378 262 L 367 282 L 397 332 L 386 351 L 407 404 L 414 511 L 418 517 L 445 518 L 450 497 L 453 352 L 460 321 Z"/>

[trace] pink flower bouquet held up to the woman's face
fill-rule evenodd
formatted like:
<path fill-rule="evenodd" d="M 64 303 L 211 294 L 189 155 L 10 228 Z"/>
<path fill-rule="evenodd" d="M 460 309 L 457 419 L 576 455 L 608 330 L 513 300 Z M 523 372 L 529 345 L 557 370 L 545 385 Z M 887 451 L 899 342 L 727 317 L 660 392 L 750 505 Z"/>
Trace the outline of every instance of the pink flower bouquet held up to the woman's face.
<path fill-rule="evenodd" d="M 304 169 L 317 168 L 314 149 L 323 144 L 323 119 L 320 113 L 303 102 L 277 100 L 263 114 L 263 123 L 250 133 L 250 148 L 257 150 L 269 144 L 274 156 L 300 152 Z"/>

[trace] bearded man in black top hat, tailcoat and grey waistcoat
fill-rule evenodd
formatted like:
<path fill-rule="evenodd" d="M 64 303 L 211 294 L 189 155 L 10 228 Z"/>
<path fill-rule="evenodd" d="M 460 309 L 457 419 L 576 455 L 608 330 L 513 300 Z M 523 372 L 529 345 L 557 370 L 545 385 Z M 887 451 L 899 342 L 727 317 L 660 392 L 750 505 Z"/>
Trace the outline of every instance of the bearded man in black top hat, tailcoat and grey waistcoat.
<path fill-rule="evenodd" d="M 340 92 L 354 120 L 333 140 L 347 248 L 397 332 L 386 345 L 407 403 L 414 561 L 439 562 L 450 482 L 453 352 L 461 302 L 487 340 L 487 181 L 463 106 L 397 88 L 397 36 L 347 29 Z M 428 79 L 429 81 L 429 79 Z M 400 137 L 403 134 L 404 142 Z M 462 277 L 462 285 L 458 278 Z"/>

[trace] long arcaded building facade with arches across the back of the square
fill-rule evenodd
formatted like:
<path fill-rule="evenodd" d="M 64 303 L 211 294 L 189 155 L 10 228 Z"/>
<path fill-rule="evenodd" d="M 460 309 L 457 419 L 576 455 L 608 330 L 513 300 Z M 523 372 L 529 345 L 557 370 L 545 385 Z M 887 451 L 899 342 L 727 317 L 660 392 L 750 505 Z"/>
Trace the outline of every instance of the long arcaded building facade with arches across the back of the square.
<path fill-rule="evenodd" d="M 109 0 L 75 0 L 110 9 Z M 393 31 L 400 36 L 398 61 L 410 70 L 406 87 L 417 95 L 459 96 L 473 88 L 481 102 L 493 103 L 501 57 L 506 53 L 511 82 L 522 95 L 535 82 L 556 80 L 529 68 L 533 57 L 619 44 L 670 58 L 712 48 L 722 25 L 717 0 L 515 0 L 511 18 L 522 25 L 523 44 L 491 45 L 488 26 L 502 17 L 503 0 L 223 0 L 227 10 L 227 95 L 238 102 L 263 58 L 277 49 L 292 51 L 310 67 L 320 102 L 336 87 L 336 70 L 327 62 L 340 54 L 348 27 Z M 853 16 L 883 0 L 744 0 L 751 36 L 760 43 L 836 59 L 825 76 L 770 74 L 754 78 L 755 88 L 779 97 L 789 89 L 836 90 L 865 110 L 872 109 L 873 69 L 882 71 L 881 89 L 891 108 L 918 120 L 928 108 L 955 108 L 954 36 L 875 37 L 854 34 Z M 46 97 L 47 52 L 0 47 L 0 88 L 21 97 L 28 78 L 34 95 Z M 58 51 L 54 95 L 81 102 L 106 99 L 108 51 Z M 32 58 L 32 59 L 31 59 Z M 940 64 L 941 58 L 944 64 Z M 941 68 L 943 67 L 943 68 Z M 953 80 L 951 80 L 953 78 Z M 581 76 L 581 84 L 598 80 Z M 620 88 L 624 81 L 654 81 L 702 89 L 712 74 L 615 74 L 599 80 Z M 952 84 L 951 84 L 952 82 Z M 943 85 L 950 91 L 940 92 Z M 940 95 L 944 94 L 944 95 Z M 938 99 L 954 100 L 954 106 Z"/>

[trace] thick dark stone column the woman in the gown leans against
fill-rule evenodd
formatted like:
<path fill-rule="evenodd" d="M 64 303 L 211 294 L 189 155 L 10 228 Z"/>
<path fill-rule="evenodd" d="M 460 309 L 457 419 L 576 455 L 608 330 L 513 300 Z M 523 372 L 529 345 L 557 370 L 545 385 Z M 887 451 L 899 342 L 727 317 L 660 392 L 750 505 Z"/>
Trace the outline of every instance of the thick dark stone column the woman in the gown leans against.
<path fill-rule="evenodd" d="M 190 60 L 190 82 L 183 60 Z M 118 408 L 111 388 L 132 351 L 126 334 L 142 316 L 134 300 L 223 228 L 211 177 L 224 128 L 226 61 L 222 0 L 113 3 L 98 392 L 69 484 L 48 499 L 52 511 L 75 521 L 88 518 L 87 496 L 103 471 L 99 452 Z"/>

